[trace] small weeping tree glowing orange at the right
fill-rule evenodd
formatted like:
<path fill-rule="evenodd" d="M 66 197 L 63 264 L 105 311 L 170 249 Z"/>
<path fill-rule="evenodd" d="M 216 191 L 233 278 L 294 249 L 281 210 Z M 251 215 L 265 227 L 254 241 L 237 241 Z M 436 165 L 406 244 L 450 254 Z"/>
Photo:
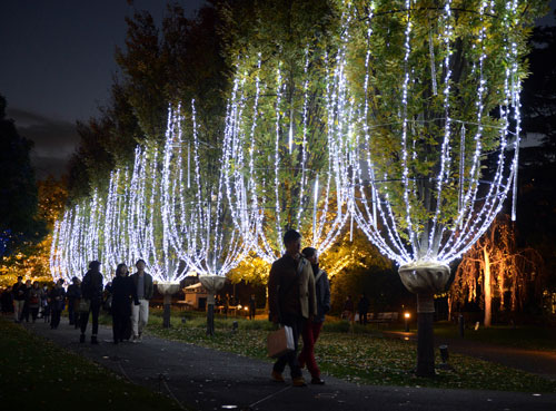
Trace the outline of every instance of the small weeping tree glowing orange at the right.
<path fill-rule="evenodd" d="M 518 247 L 515 224 L 503 214 L 464 254 L 448 294 L 450 311 L 466 302 L 479 303 L 488 327 L 493 299 L 499 301 L 500 311 L 512 312 L 523 311 L 532 293 L 540 299 L 543 266 L 543 257 L 536 249 Z"/>

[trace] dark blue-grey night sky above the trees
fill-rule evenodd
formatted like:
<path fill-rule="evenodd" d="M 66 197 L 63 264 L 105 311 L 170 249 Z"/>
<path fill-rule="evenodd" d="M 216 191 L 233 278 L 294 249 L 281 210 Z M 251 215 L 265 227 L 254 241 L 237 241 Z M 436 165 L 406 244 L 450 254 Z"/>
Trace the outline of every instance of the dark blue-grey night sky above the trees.
<path fill-rule="evenodd" d="M 205 1 L 179 0 L 189 16 Z M 34 141 L 38 178 L 60 176 L 87 120 L 106 104 L 126 16 L 148 10 L 160 23 L 165 0 L 0 0 L 0 94 L 19 133 Z M 552 0 L 552 9 L 556 0 Z M 547 17 L 543 25 L 554 23 Z"/>

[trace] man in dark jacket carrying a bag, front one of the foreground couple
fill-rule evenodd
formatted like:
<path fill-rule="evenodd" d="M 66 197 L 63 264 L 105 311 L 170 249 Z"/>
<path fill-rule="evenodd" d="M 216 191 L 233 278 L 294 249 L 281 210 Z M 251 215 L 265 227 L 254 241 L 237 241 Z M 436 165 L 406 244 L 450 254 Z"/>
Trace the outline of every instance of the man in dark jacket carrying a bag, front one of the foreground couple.
<path fill-rule="evenodd" d="M 278 358 L 271 379 L 284 382 L 282 372 L 288 364 L 294 386 L 306 386 L 297 361 L 297 346 L 305 321 L 316 315 L 315 277 L 310 263 L 299 253 L 301 235 L 295 229 L 287 231 L 284 245 L 286 254 L 272 263 L 268 277 L 269 319 L 291 327 L 295 350 Z"/>

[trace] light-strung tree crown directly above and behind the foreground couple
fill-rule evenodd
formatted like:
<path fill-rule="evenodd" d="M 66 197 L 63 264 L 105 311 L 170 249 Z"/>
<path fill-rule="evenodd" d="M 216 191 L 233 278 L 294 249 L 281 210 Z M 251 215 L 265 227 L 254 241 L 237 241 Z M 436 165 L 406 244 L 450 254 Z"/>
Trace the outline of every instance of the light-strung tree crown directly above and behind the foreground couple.
<path fill-rule="evenodd" d="M 334 9 L 286 0 L 244 7 L 247 19 L 241 8 L 228 16 L 234 86 L 224 156 L 232 219 L 267 263 L 284 252 L 288 228 L 322 253 L 348 219 L 334 125 Z"/>

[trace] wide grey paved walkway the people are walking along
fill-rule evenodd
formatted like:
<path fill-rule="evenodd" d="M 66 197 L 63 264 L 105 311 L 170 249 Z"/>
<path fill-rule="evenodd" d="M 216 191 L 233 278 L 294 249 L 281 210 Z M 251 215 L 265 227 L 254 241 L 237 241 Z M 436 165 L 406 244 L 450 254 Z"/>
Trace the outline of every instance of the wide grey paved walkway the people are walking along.
<path fill-rule="evenodd" d="M 199 410 L 556 410 L 556 394 L 373 386 L 331 376 L 322 386 L 292 388 L 270 381 L 271 365 L 260 360 L 153 336 L 113 345 L 108 327 L 101 327 L 99 345 L 79 344 L 79 333 L 64 320 L 56 331 L 40 322 L 26 326 Z"/>

